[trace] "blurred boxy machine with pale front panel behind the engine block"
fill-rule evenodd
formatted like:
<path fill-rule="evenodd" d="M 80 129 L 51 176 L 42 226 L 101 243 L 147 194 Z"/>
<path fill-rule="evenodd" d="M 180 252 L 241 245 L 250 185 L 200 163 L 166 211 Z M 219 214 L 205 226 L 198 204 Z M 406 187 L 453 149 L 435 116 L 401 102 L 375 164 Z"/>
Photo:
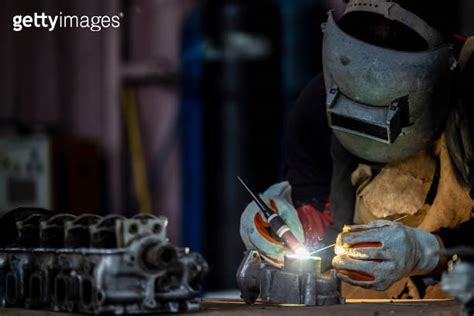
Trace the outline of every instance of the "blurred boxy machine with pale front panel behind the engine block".
<path fill-rule="evenodd" d="M 17 207 L 100 214 L 104 162 L 99 146 L 42 134 L 0 138 L 0 216 Z"/>

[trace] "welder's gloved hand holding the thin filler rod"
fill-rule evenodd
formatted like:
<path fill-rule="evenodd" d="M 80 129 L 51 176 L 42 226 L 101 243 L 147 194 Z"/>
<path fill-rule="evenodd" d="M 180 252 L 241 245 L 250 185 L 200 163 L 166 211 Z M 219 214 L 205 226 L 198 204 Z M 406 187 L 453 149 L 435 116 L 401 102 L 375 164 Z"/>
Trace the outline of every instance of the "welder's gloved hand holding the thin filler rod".
<path fill-rule="evenodd" d="M 437 238 L 430 233 L 377 220 L 344 227 L 332 263 L 341 280 L 383 291 L 405 276 L 432 272 L 438 265 L 439 250 Z"/>

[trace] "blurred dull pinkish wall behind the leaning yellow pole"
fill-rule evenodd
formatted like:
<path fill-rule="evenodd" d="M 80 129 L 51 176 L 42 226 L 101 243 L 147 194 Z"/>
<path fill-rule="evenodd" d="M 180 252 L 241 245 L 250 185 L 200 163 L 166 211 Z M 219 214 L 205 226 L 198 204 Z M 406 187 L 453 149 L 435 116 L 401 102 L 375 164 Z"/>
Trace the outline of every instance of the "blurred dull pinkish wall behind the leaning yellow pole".
<path fill-rule="evenodd" d="M 148 166 L 156 164 L 147 174 L 152 208 L 169 218 L 173 241 L 179 240 L 181 226 L 179 87 L 176 80 L 162 84 L 161 76 L 177 76 L 181 24 L 193 4 L 189 0 L 1 2 L 3 125 L 94 142 L 104 159 L 102 212 L 130 215 L 139 211 L 122 90 L 129 81 L 158 78 L 137 84 L 135 97 L 145 160 Z M 123 12 L 124 18 L 118 30 L 12 32 L 13 15 L 33 12 L 79 16 Z"/>

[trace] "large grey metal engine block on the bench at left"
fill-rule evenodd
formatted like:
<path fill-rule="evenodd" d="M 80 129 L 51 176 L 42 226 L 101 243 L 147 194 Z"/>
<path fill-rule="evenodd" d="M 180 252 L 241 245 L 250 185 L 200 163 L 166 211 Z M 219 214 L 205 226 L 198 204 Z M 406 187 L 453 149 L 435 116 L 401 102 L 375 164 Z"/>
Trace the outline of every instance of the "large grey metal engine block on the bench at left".
<path fill-rule="evenodd" d="M 81 313 L 194 311 L 206 261 L 166 237 L 164 217 L 33 214 L 0 249 L 2 306 Z"/>

